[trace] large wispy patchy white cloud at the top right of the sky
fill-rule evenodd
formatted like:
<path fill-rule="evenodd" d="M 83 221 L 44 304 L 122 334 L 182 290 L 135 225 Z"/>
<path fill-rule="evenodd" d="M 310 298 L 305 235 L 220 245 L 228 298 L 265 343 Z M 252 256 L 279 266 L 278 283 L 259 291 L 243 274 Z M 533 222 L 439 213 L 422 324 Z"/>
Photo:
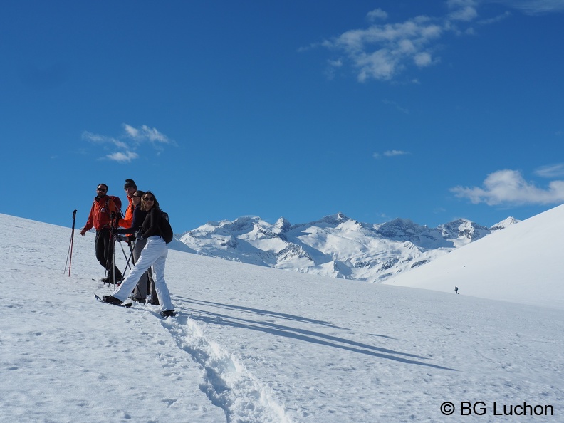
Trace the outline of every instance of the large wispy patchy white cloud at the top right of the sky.
<path fill-rule="evenodd" d="M 528 14 L 564 11 L 564 0 L 447 0 L 444 16 L 416 16 L 403 22 L 377 24 L 375 21 L 387 19 L 388 15 L 382 9 L 374 9 L 367 14 L 368 28 L 345 31 L 316 46 L 338 55 L 330 61 L 330 66 L 350 64 L 360 82 L 392 80 L 410 66 L 424 68 L 440 63 L 436 54 L 439 48 L 444 48 L 441 38 L 448 33 L 471 36 L 476 33 L 476 25 L 484 26 L 511 16 L 506 11 L 479 20 L 478 6 L 488 2 L 506 4 Z M 334 73 L 328 71 L 327 75 L 333 77 Z"/>

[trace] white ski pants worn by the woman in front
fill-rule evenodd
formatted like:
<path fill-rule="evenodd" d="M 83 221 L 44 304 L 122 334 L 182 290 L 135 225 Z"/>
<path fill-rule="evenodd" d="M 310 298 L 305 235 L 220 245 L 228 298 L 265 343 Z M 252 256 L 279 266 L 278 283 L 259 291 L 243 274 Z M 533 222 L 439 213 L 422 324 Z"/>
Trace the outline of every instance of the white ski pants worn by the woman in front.
<path fill-rule="evenodd" d="M 141 276 L 143 276 L 143 273 L 152 266 L 155 291 L 157 291 L 162 310 L 174 310 L 167 283 L 164 281 L 164 263 L 167 261 L 167 255 L 168 247 L 164 239 L 160 236 L 150 236 L 147 238 L 147 244 L 145 244 L 145 248 L 141 251 L 137 263 L 135 263 L 127 278 L 112 293 L 112 296 L 118 300 L 125 301 L 130 292 L 133 291 L 133 288 L 135 288 L 135 285 L 137 285 L 137 282 L 139 282 Z"/>

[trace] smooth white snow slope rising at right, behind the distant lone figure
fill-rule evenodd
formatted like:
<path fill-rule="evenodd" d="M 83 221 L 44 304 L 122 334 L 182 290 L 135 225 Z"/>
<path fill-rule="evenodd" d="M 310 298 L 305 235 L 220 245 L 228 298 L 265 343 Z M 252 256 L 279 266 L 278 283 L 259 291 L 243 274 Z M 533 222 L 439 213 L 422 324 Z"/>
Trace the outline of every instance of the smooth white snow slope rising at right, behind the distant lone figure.
<path fill-rule="evenodd" d="M 564 309 L 564 205 L 386 281 Z"/>

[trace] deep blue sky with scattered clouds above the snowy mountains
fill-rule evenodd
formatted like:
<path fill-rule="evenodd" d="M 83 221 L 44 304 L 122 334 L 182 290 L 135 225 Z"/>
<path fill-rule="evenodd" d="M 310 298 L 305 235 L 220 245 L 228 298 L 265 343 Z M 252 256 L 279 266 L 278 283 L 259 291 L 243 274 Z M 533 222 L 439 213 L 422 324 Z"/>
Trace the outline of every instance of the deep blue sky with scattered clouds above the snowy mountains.
<path fill-rule="evenodd" d="M 564 202 L 563 0 L 12 1 L 0 212 L 174 231 L 338 211 L 491 226 Z"/>

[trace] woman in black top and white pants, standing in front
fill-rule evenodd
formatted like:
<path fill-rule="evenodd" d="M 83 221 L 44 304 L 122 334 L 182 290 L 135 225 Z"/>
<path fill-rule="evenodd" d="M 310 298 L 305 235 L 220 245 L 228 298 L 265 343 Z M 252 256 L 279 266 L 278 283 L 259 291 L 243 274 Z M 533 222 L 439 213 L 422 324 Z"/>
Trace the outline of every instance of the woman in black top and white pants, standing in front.
<path fill-rule="evenodd" d="M 137 238 L 146 239 L 147 244 L 141 251 L 139 260 L 137 260 L 127 278 L 124 279 L 111 296 L 103 296 L 102 300 L 105 303 L 121 304 L 137 284 L 142 274 L 152 266 L 153 278 L 155 278 L 155 291 L 157 291 L 162 309 L 161 315 L 166 318 L 174 315 L 174 305 L 172 305 L 172 300 L 170 299 L 167 283 L 164 281 L 164 265 L 167 261 L 168 247 L 161 236 L 160 220 L 162 211 L 160 211 L 159 202 L 157 202 L 155 194 L 152 192 L 145 192 L 142 198 L 147 216 L 145 221 L 143 221 Z"/>

